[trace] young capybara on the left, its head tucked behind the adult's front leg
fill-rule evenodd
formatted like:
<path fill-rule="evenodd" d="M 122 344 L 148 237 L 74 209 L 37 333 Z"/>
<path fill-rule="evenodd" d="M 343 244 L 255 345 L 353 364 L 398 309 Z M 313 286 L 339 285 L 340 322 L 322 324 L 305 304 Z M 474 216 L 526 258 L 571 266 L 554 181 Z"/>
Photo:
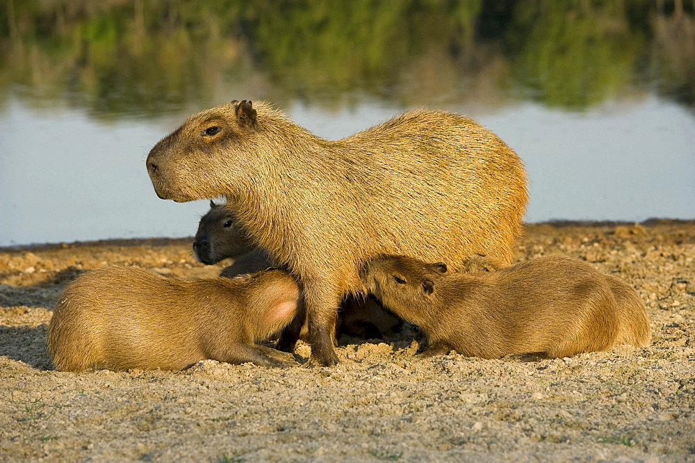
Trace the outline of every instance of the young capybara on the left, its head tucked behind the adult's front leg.
<path fill-rule="evenodd" d="M 48 352 L 64 371 L 162 368 L 199 360 L 281 366 L 256 346 L 291 322 L 295 279 L 268 270 L 240 279 L 165 277 L 138 267 L 92 270 L 70 283 L 51 318 Z"/>

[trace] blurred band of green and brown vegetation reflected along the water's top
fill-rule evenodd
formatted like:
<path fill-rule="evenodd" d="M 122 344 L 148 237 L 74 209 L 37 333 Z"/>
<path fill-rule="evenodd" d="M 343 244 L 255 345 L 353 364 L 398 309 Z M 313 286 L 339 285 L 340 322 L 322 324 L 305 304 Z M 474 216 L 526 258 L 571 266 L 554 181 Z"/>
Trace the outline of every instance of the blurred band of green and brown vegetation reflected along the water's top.
<path fill-rule="evenodd" d="M 582 111 L 655 89 L 695 108 L 682 0 L 3 0 L 10 96 L 97 117 L 220 97 L 323 106 L 534 99 Z"/>

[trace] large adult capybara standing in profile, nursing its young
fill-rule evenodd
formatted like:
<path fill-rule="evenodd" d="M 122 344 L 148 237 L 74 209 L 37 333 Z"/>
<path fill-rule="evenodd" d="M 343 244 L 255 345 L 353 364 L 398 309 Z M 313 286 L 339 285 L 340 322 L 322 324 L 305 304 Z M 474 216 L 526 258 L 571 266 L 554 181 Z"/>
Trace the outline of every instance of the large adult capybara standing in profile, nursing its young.
<path fill-rule="evenodd" d="M 528 199 L 518 156 L 454 113 L 409 111 L 330 141 L 269 104 L 232 101 L 189 117 L 147 156 L 157 195 L 224 196 L 250 238 L 304 293 L 311 364 L 335 364 L 331 333 L 359 268 L 378 254 L 509 263 Z M 300 326 L 279 346 L 288 348 Z"/>

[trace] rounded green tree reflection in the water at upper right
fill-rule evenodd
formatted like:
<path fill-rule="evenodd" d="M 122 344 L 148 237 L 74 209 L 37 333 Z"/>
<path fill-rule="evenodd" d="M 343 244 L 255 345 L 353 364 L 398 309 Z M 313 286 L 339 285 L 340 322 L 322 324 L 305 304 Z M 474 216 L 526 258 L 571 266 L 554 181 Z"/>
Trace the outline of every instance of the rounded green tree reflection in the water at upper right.
<path fill-rule="evenodd" d="M 520 2 L 507 40 L 525 95 L 581 109 L 630 86 L 644 37 L 631 31 L 623 1 Z"/>

